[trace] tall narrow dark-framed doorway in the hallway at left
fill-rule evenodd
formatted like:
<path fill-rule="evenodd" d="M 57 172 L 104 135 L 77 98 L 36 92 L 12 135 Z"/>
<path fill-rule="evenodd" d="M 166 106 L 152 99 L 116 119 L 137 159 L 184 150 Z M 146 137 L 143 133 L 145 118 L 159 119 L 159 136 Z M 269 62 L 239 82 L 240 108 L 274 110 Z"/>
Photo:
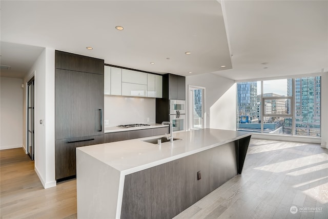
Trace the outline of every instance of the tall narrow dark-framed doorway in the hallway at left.
<path fill-rule="evenodd" d="M 34 77 L 27 83 L 27 152 L 34 161 Z"/>

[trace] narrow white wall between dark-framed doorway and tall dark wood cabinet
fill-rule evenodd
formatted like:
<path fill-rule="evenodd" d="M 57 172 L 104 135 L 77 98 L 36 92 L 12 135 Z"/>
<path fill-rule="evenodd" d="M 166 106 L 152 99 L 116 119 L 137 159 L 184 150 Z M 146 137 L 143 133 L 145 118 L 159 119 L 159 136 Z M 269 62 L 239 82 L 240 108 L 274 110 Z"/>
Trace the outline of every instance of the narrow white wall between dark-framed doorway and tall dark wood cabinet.
<path fill-rule="evenodd" d="M 24 78 L 26 83 L 34 74 L 35 110 L 34 169 L 45 188 L 56 186 L 55 181 L 55 50 L 46 48 Z M 26 98 L 26 95 L 24 95 Z M 26 104 L 26 99 L 24 101 Z M 26 107 L 25 112 L 26 116 Z M 43 121 L 40 124 L 40 120 Z M 26 124 L 26 119 L 25 119 Z M 26 125 L 24 125 L 26 129 Z"/>

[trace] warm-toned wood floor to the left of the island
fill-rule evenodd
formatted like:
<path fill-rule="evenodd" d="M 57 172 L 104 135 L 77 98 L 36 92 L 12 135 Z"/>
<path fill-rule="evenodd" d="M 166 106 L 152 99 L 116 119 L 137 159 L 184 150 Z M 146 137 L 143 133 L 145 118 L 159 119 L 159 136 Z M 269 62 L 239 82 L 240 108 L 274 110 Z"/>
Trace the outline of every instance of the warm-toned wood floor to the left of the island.
<path fill-rule="evenodd" d="M 0 218 L 77 218 L 76 181 L 44 189 L 23 148 L 0 151 Z"/>

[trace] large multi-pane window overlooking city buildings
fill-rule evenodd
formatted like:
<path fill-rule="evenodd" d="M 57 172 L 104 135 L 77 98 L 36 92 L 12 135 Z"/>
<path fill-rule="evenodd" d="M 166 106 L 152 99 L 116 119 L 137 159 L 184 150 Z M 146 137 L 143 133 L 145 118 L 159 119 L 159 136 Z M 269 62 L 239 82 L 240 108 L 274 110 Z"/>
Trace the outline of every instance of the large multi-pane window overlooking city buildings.
<path fill-rule="evenodd" d="M 321 77 L 237 83 L 237 130 L 320 136 Z"/>

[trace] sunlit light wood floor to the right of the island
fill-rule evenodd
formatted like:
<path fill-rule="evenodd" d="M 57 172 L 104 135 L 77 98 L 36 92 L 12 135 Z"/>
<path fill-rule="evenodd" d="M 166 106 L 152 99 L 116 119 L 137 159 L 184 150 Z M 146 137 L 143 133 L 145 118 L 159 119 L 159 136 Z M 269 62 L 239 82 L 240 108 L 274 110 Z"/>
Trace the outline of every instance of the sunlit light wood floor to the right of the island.
<path fill-rule="evenodd" d="M 290 211 L 292 206 L 298 211 L 295 214 Z M 327 219 L 328 149 L 318 144 L 252 139 L 242 174 L 178 218 Z"/>

